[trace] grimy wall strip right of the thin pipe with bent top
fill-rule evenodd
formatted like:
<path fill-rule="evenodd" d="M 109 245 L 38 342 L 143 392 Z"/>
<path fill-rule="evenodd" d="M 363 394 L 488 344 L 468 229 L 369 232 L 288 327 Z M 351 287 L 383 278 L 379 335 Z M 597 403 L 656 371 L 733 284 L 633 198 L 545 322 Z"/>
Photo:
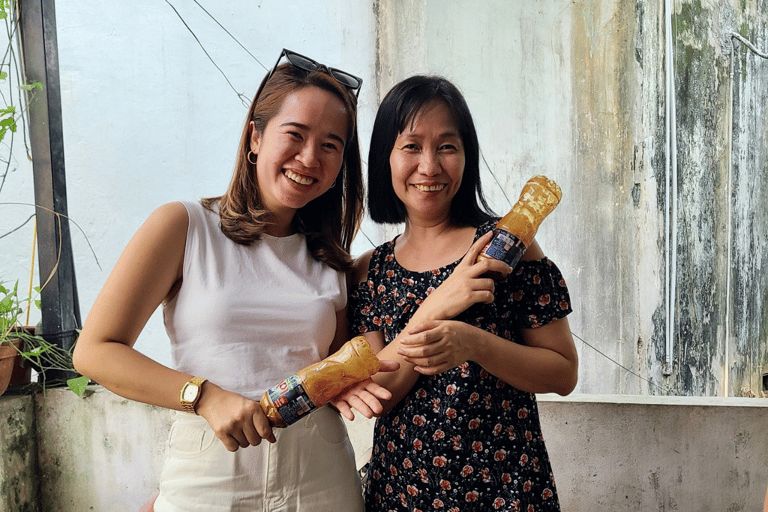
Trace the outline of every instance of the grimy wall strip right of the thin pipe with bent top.
<path fill-rule="evenodd" d="M 768 49 L 765 30 L 751 22 L 759 17 L 768 25 L 768 2 L 755 5 L 739 23 L 739 33 Z M 754 14 L 753 14 L 754 13 Z M 762 36 L 761 36 L 762 34 Z M 733 41 L 733 126 L 731 181 L 731 391 L 762 389 L 762 366 L 768 360 L 768 283 L 761 276 L 768 268 L 768 60 Z M 729 56 L 731 57 L 731 56 Z"/>

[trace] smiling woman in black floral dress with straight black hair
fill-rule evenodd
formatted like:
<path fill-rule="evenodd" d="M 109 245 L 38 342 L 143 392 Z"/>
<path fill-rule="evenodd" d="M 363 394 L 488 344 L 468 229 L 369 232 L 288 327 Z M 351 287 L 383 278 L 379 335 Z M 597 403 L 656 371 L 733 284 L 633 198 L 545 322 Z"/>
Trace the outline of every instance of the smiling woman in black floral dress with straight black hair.
<path fill-rule="evenodd" d="M 376 377 L 393 397 L 374 431 L 366 510 L 559 510 L 534 393 L 576 385 L 560 271 L 535 241 L 514 269 L 475 263 L 498 218 L 472 117 L 447 80 L 415 76 L 388 93 L 368 162 L 372 219 L 405 229 L 358 259 L 350 294 L 353 333 L 400 362 Z"/>

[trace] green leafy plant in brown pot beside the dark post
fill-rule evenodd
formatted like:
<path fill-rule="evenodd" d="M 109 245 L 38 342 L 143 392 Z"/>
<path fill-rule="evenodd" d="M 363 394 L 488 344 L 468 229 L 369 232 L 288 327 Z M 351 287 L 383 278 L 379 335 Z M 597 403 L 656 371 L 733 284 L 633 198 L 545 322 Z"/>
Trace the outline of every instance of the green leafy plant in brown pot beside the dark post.
<path fill-rule="evenodd" d="M 46 381 L 45 372 L 48 370 L 76 373 L 69 350 L 49 343 L 36 335 L 32 328 L 20 324 L 22 305 L 31 300 L 19 299 L 18 282 L 13 288 L 0 283 L 0 395 L 12 382 L 14 371 L 17 376 L 29 375 L 29 369 L 34 368 L 39 372 L 38 383 L 43 387 L 58 384 Z M 67 380 L 67 386 L 78 395 L 83 394 L 87 384 L 88 378 L 83 376 Z"/>

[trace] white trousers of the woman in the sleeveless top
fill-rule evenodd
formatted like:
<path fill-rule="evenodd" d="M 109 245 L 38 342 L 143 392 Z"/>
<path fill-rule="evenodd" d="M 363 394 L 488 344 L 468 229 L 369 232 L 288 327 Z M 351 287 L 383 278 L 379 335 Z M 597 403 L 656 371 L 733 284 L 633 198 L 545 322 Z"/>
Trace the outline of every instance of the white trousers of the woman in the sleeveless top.
<path fill-rule="evenodd" d="M 155 512 L 362 512 L 360 478 L 339 414 L 321 407 L 277 442 L 230 452 L 200 416 L 179 412 Z"/>

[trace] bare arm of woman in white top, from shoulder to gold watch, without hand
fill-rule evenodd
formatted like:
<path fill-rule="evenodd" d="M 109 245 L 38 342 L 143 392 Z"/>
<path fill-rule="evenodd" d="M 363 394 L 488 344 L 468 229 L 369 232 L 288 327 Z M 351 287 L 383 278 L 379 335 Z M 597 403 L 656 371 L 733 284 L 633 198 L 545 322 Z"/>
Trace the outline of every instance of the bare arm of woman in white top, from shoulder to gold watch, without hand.
<path fill-rule="evenodd" d="M 181 279 L 188 225 L 181 204 L 157 209 L 125 248 L 77 341 L 75 368 L 120 396 L 181 409 L 191 376 L 133 349 L 147 320 Z"/>

